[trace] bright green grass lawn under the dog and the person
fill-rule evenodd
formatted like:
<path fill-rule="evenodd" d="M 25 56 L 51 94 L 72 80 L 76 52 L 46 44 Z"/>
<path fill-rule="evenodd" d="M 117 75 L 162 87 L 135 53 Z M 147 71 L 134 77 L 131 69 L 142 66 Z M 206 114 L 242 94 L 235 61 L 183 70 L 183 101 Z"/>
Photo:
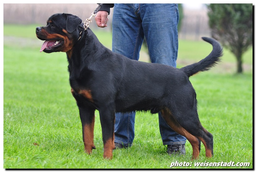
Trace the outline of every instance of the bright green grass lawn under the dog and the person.
<path fill-rule="evenodd" d="M 6 29 L 4 26 L 4 35 L 8 35 L 7 30 L 12 28 L 8 27 Z M 32 27 L 35 29 L 35 26 Z M 24 29 L 24 26 L 21 29 L 30 30 L 32 27 Z M 19 39 L 27 35 L 24 41 L 33 40 L 35 44 L 20 45 L 4 41 L 4 168 L 169 169 L 171 163 L 176 161 L 193 163 L 186 168 L 253 168 L 252 71 L 237 75 L 216 66 L 190 79 L 197 92 L 200 121 L 214 136 L 213 158 L 206 159 L 205 148 L 201 145 L 200 158 L 190 161 L 192 147 L 189 142 L 186 143 L 187 154 L 184 157 L 169 157 L 162 145 L 158 116 L 138 113 L 133 146 L 125 150 L 114 150 L 113 159 L 107 161 L 102 158 L 103 143 L 97 111 L 94 130 L 97 149 L 90 156 L 83 152 L 82 127 L 78 108 L 70 93 L 65 53 L 40 53 L 42 41 L 33 38 L 31 33 L 15 34 Z M 104 45 L 109 45 L 106 38 L 101 38 L 111 37 L 109 33 L 97 35 Z M 197 48 L 202 46 L 204 49 L 204 44 L 182 40 L 179 50 L 184 52 L 179 51 L 179 55 L 188 61 L 201 60 L 204 54 L 199 54 L 201 52 Z M 209 51 L 211 46 L 203 53 Z M 223 64 L 235 64 L 229 55 L 225 54 L 224 58 L 230 60 Z M 248 64 L 251 64 L 250 57 L 252 54 L 245 59 Z M 194 162 L 205 161 L 250 162 L 250 166 L 194 166 Z"/>

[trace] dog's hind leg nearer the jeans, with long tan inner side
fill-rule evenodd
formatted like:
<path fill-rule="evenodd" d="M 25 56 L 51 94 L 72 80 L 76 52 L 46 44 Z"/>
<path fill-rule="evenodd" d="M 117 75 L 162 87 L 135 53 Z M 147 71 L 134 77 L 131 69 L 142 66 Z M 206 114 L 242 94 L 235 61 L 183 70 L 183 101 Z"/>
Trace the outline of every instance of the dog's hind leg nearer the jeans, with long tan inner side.
<path fill-rule="evenodd" d="M 168 108 L 164 108 L 161 110 L 161 115 L 164 118 L 165 122 L 178 134 L 183 135 L 187 138 L 189 143 L 192 145 L 193 154 L 192 159 L 197 159 L 200 153 L 201 141 L 190 134 L 185 128 L 183 128 L 177 120 L 173 117 L 172 112 Z"/>

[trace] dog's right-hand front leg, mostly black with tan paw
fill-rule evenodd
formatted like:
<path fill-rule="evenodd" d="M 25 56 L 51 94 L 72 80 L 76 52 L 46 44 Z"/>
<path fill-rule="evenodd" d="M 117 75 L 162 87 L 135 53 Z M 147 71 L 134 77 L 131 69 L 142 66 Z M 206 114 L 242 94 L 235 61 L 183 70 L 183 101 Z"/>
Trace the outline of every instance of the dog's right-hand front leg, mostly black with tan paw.
<path fill-rule="evenodd" d="M 107 107 L 100 111 L 100 121 L 102 127 L 102 139 L 104 144 L 103 157 L 106 159 L 112 159 L 112 150 L 115 148 L 114 143 L 114 123 L 115 112 L 113 108 Z"/>

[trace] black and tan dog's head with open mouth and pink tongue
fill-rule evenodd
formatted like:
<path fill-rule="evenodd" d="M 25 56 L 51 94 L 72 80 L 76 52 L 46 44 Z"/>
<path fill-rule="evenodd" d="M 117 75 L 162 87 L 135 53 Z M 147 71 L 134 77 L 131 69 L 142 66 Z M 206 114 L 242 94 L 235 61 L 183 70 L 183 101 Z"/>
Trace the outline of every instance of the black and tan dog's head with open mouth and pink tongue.
<path fill-rule="evenodd" d="M 82 20 L 71 14 L 54 14 L 47 20 L 47 25 L 36 28 L 38 39 L 45 41 L 40 49 L 46 53 L 67 52 L 79 38 L 78 29 Z"/>

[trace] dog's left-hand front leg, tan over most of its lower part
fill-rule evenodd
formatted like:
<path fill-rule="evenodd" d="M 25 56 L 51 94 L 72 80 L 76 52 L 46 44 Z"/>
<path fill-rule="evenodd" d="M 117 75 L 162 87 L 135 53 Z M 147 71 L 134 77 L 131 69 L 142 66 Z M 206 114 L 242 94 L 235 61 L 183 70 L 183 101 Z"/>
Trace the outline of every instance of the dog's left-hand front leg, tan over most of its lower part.
<path fill-rule="evenodd" d="M 83 143 L 84 151 L 88 154 L 92 153 L 92 149 L 95 149 L 93 143 L 93 130 L 94 130 L 94 121 L 95 121 L 95 109 L 88 107 L 79 107 L 80 119 L 82 122 L 83 129 Z"/>

